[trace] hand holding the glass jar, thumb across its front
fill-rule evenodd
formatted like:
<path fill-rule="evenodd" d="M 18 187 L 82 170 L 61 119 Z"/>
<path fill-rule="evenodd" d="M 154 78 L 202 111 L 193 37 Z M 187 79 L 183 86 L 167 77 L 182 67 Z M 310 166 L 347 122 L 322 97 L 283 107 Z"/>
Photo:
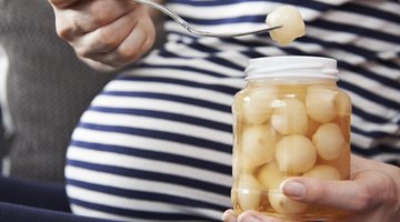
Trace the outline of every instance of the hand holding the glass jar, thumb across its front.
<path fill-rule="evenodd" d="M 293 200 L 349 211 L 351 214 L 340 222 L 393 222 L 400 218 L 400 168 L 356 155 L 349 181 L 293 178 L 282 189 Z M 222 221 L 280 222 L 256 211 L 237 216 L 232 210 L 223 213 Z"/>

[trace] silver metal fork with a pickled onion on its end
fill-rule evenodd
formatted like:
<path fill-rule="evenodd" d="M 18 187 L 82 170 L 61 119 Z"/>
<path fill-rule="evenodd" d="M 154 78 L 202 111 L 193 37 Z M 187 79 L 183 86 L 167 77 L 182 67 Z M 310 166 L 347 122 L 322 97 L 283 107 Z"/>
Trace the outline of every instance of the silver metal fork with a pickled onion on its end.
<path fill-rule="evenodd" d="M 156 2 L 149 1 L 149 0 L 133 0 L 133 1 L 146 4 L 148 7 L 151 7 L 153 9 L 157 9 L 157 10 L 166 13 L 167 16 L 171 17 L 174 21 L 177 21 L 180 26 L 182 26 L 188 32 L 196 34 L 196 36 L 201 36 L 201 37 L 216 37 L 216 38 L 242 37 L 242 36 L 247 36 L 247 34 L 258 34 L 258 33 L 269 32 L 269 31 L 272 31 L 274 29 L 279 29 L 282 27 L 282 26 L 266 27 L 262 29 L 244 31 L 244 32 L 228 32 L 228 33 L 208 32 L 208 31 L 194 29 L 187 21 L 184 21 L 184 19 L 182 19 L 180 16 L 178 16 L 176 12 L 169 10 L 168 8 L 166 8 L 159 3 L 156 3 Z"/>

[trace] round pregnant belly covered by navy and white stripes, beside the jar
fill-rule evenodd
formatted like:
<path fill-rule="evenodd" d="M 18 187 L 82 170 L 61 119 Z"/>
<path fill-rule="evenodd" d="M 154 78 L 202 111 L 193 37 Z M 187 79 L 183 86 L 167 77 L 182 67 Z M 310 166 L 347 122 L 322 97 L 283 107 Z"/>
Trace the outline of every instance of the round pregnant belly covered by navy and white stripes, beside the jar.
<path fill-rule="evenodd" d="M 110 82 L 83 113 L 68 149 L 72 211 L 118 220 L 218 221 L 230 206 L 227 98 L 151 80 Z"/>

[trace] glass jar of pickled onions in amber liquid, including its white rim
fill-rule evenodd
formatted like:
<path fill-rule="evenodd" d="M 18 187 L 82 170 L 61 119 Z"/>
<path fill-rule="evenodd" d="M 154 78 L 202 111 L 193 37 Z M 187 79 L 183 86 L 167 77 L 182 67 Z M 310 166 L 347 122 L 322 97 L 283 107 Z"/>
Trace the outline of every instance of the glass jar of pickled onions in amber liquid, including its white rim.
<path fill-rule="evenodd" d="M 336 60 L 252 59 L 246 73 L 232 105 L 234 211 L 296 221 L 342 218 L 344 211 L 300 203 L 280 190 L 290 176 L 350 176 L 351 101 L 338 89 Z"/>

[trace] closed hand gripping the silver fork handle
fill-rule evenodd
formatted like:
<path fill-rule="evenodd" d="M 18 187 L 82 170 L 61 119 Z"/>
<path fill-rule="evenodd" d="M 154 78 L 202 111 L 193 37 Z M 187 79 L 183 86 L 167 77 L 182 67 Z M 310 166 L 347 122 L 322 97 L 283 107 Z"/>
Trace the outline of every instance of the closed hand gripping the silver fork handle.
<path fill-rule="evenodd" d="M 153 12 L 131 0 L 49 0 L 59 37 L 97 70 L 136 62 L 153 46 Z"/>

